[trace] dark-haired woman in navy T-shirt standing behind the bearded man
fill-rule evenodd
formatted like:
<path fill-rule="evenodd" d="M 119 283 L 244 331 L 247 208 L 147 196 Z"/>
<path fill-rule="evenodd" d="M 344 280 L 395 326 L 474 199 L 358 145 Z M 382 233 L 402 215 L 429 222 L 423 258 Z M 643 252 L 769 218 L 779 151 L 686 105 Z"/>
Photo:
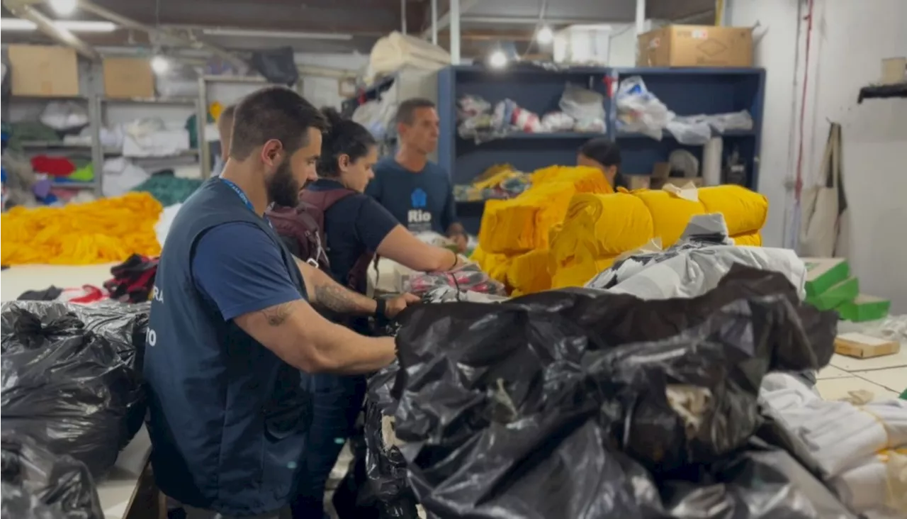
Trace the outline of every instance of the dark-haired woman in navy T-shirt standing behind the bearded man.
<path fill-rule="evenodd" d="M 366 293 L 366 269 L 377 252 L 414 270 L 442 271 L 462 265 L 451 250 L 418 240 L 375 199 L 363 194 L 374 177 L 378 160 L 375 138 L 362 125 L 343 120 L 333 109 L 324 109 L 329 130 L 323 135 L 319 179 L 307 185 L 302 200 L 334 201 L 325 215 L 327 256 L 338 283 Z M 308 191 L 308 192 L 306 192 Z M 336 195 L 346 196 L 336 199 Z M 356 271 L 357 270 L 357 271 Z M 357 333 L 368 333 L 368 321 L 347 321 Z M 343 441 L 356 425 L 366 394 L 366 377 L 318 374 L 308 377 L 313 397 L 312 426 L 307 436 L 303 473 L 293 504 L 294 519 L 321 519 L 325 485 Z"/>

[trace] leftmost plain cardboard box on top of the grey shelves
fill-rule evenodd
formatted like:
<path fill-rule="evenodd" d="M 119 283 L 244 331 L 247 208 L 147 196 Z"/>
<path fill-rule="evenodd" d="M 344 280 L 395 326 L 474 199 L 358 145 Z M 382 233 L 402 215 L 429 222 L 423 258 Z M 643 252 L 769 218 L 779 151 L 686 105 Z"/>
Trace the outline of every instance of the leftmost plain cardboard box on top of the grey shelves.
<path fill-rule="evenodd" d="M 13 95 L 79 95 L 79 61 L 73 49 L 54 45 L 10 45 L 9 64 L 13 73 Z"/>

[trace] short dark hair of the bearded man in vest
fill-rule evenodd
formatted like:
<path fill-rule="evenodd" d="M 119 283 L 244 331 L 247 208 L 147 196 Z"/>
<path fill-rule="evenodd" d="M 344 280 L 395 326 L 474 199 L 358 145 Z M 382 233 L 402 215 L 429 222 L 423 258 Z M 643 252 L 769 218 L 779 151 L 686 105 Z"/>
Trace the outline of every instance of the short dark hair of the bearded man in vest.
<path fill-rule="evenodd" d="M 307 144 L 308 129 L 327 130 L 325 116 L 298 93 L 283 86 L 268 86 L 249 93 L 236 107 L 229 156 L 244 161 L 271 139 L 289 153 Z"/>

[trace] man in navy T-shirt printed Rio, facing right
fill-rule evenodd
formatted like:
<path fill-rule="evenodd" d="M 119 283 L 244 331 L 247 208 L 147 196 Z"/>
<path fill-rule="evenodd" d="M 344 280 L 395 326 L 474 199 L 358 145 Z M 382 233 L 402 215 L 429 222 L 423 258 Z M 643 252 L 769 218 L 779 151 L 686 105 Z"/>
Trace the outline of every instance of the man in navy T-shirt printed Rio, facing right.
<path fill-rule="evenodd" d="M 393 157 L 375 164 L 371 195 L 413 232 L 434 230 L 453 240 L 461 252 L 467 237 L 456 218 L 453 182 L 448 171 L 428 161 L 438 146 L 438 113 L 427 99 L 408 99 L 397 108 L 399 146 Z"/>

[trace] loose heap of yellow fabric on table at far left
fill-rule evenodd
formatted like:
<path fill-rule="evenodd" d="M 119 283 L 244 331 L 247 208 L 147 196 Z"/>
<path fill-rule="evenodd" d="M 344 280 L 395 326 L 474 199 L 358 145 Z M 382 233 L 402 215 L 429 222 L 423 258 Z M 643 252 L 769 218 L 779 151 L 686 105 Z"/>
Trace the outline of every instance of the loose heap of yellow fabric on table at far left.
<path fill-rule="evenodd" d="M 161 253 L 161 203 L 145 192 L 0 214 L 0 264 L 87 265 Z"/>

